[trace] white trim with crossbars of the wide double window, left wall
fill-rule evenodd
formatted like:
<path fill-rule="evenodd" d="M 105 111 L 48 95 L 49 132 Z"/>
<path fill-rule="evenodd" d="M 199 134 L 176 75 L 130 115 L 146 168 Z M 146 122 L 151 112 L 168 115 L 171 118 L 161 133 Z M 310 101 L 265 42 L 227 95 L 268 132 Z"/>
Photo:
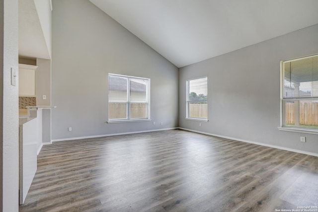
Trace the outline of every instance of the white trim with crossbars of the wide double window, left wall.
<path fill-rule="evenodd" d="M 109 76 L 112 75 L 112 76 L 120 76 L 120 77 L 127 77 L 127 78 L 136 78 L 136 79 L 145 79 L 147 80 L 147 95 L 146 95 L 146 101 L 145 102 L 142 102 L 142 101 L 130 101 L 129 99 L 129 95 L 128 95 L 128 90 L 127 90 L 127 101 L 109 101 Z M 129 81 L 129 80 L 128 80 Z M 128 83 L 127 81 L 127 83 Z M 139 77 L 139 76 L 130 76 L 130 75 L 123 75 L 123 74 L 116 74 L 116 73 L 108 73 L 108 104 L 111 103 L 111 102 L 123 102 L 123 103 L 127 103 L 128 106 L 127 106 L 127 119 L 109 119 L 108 118 L 108 121 L 107 123 L 109 124 L 112 124 L 112 123 L 129 123 L 129 122 L 145 122 L 145 121 L 151 121 L 151 116 L 150 116 L 150 78 L 145 78 L 145 77 Z M 130 86 L 128 86 L 127 88 L 130 89 Z M 129 112 L 129 104 L 130 103 L 146 103 L 147 104 L 147 119 L 145 118 L 129 118 L 130 116 L 130 112 Z M 108 110 L 109 110 L 109 107 L 108 107 Z M 109 113 L 109 112 L 108 112 Z M 108 116 L 108 115 L 107 115 Z"/>

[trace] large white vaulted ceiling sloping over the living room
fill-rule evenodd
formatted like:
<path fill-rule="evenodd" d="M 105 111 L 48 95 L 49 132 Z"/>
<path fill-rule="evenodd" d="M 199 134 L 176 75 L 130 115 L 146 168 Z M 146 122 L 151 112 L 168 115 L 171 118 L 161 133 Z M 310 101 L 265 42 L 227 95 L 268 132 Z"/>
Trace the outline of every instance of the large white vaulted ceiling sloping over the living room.
<path fill-rule="evenodd" d="M 318 0 L 90 0 L 177 67 L 318 23 Z"/>

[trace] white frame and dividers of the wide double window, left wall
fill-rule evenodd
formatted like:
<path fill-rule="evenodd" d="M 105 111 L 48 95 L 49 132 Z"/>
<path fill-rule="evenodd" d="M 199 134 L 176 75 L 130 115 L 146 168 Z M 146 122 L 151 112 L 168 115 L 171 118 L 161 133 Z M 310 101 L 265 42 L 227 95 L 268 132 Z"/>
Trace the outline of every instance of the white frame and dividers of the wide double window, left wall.
<path fill-rule="evenodd" d="M 127 78 L 127 101 L 110 101 L 110 76 L 118 76 Z M 131 80 L 132 79 L 142 79 L 146 80 L 146 101 L 131 101 L 130 100 L 130 90 L 131 90 Z M 130 75 L 123 75 L 123 74 L 115 74 L 115 73 L 108 73 L 108 121 L 107 123 L 125 123 L 125 122 L 144 122 L 144 121 L 151 121 L 150 116 L 150 86 L 151 86 L 151 79 L 145 77 L 138 77 L 138 76 L 130 76 Z M 120 119 L 109 119 L 109 103 L 126 103 L 126 118 Z M 146 118 L 131 118 L 131 104 L 132 103 L 145 103 L 146 104 Z"/>

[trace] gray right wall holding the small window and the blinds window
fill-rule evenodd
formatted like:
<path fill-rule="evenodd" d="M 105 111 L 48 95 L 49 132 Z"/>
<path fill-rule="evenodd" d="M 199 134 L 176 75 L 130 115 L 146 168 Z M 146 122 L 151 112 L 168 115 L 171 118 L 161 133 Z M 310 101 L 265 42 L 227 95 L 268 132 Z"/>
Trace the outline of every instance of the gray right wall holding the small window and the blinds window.
<path fill-rule="evenodd" d="M 318 25 L 179 70 L 179 126 L 318 153 L 318 136 L 279 131 L 280 61 L 318 53 Z M 185 82 L 208 76 L 209 122 L 186 120 Z M 307 142 L 301 143 L 300 136 Z"/>

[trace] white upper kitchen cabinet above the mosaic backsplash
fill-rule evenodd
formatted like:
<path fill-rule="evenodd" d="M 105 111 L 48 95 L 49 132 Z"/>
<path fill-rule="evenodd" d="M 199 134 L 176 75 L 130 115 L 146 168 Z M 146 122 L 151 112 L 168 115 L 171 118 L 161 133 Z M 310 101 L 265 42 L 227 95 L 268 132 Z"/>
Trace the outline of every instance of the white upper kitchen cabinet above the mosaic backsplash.
<path fill-rule="evenodd" d="M 35 96 L 37 66 L 19 64 L 19 96 Z"/>

